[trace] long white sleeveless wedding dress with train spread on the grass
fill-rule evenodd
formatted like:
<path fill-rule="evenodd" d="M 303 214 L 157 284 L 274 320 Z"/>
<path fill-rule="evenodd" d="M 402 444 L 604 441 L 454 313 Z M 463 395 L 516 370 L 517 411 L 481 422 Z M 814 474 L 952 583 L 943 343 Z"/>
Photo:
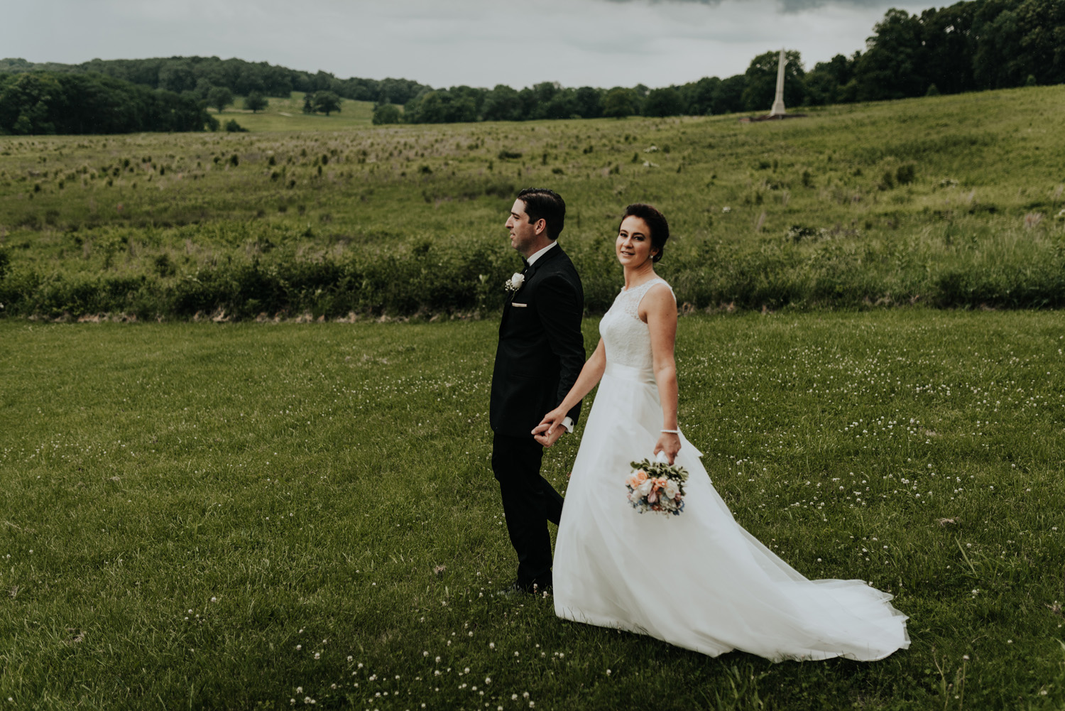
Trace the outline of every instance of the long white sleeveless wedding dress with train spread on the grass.
<path fill-rule="evenodd" d="M 652 456 L 662 429 L 651 337 L 637 316 L 656 284 L 666 282 L 622 291 L 600 323 L 606 372 L 558 527 L 556 614 L 711 657 L 741 649 L 774 661 L 871 661 L 908 647 L 891 595 L 861 580 L 807 580 L 744 531 L 684 435 L 684 511 L 630 506 L 629 463 Z"/>

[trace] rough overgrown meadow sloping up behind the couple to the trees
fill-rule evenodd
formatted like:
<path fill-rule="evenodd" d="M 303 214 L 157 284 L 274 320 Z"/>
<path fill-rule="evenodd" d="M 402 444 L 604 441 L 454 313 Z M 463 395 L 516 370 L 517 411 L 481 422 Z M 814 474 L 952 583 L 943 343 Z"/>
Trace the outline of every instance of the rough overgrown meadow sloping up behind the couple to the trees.
<path fill-rule="evenodd" d="M 1062 306 L 1063 103 L 1050 86 L 764 124 L 374 127 L 368 104 L 304 116 L 294 95 L 222 114 L 250 133 L 4 136 L 0 303 L 49 318 L 492 312 L 518 263 L 503 222 L 535 184 L 567 198 L 562 244 L 593 311 L 617 291 L 633 201 L 670 217 L 660 266 L 688 308 Z"/>

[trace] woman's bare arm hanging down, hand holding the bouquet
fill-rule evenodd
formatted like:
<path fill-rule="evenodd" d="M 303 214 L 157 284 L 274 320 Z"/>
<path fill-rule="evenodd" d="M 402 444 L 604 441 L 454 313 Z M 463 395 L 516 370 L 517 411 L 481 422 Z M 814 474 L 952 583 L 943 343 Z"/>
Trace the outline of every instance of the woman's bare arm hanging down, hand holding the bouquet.
<path fill-rule="evenodd" d="M 658 385 L 658 397 L 662 403 L 662 430 L 677 430 L 676 426 L 676 360 L 673 346 L 676 341 L 676 301 L 673 292 L 665 286 L 652 287 L 640 302 L 640 318 L 648 322 L 651 332 L 651 356 Z M 673 464 L 681 451 L 681 436 L 662 432 L 655 445 L 654 454 L 665 452 Z"/>

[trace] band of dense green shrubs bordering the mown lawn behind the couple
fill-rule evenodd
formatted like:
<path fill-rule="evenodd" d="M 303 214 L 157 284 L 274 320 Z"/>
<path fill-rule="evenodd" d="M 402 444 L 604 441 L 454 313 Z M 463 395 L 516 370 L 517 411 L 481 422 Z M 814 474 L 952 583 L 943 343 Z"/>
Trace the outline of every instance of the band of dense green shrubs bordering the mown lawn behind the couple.
<path fill-rule="evenodd" d="M 1065 239 L 1003 238 L 980 252 L 949 254 L 933 243 L 898 245 L 787 240 L 757 245 L 706 242 L 675 249 L 660 273 L 688 308 L 862 308 L 922 303 L 940 308 L 1065 306 Z M 621 284 L 611 245 L 575 241 L 586 306 L 605 311 Z M 276 249 L 246 262 L 167 276 L 52 275 L 19 270 L 0 251 L 0 313 L 59 318 L 125 312 L 187 319 L 225 311 L 234 319 L 489 314 L 502 308 L 503 281 L 515 264 L 497 245 L 365 249 L 343 258 L 301 259 Z"/>

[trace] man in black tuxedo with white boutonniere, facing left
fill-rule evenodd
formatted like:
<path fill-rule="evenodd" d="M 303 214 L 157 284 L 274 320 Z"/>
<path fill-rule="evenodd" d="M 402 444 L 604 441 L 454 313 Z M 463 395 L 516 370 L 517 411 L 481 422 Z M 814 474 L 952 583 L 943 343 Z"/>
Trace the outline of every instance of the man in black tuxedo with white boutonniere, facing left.
<path fill-rule="evenodd" d="M 543 448 L 572 430 L 580 414 L 578 403 L 553 435 L 531 434 L 562 402 L 585 363 L 585 295 L 573 262 L 556 241 L 564 222 L 566 203 L 558 193 L 527 189 L 518 194 L 506 225 L 510 246 L 526 264 L 509 282 L 490 407 L 492 471 L 518 552 L 518 579 L 508 593 L 551 587 L 547 521 L 558 524 L 562 497 L 540 475 L 540 462 Z"/>

